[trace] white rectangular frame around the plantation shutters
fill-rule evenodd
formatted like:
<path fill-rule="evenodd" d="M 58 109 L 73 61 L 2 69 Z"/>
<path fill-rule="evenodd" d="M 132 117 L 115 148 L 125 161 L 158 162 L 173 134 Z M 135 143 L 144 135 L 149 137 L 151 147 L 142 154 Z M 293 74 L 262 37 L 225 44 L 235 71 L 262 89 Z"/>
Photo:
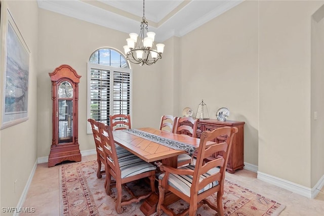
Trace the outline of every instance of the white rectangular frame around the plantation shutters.
<path fill-rule="evenodd" d="M 119 68 L 119 67 L 111 67 L 111 66 L 106 66 L 106 65 L 99 65 L 99 64 L 91 64 L 88 63 L 88 71 L 87 71 L 87 119 L 90 118 L 90 103 L 91 103 L 91 94 L 90 94 L 90 74 L 91 74 L 91 68 L 96 68 L 96 69 L 102 69 L 102 70 L 109 70 L 111 74 L 113 72 L 126 72 L 130 74 L 130 115 L 132 118 L 132 112 L 133 112 L 133 70 L 128 69 L 128 68 Z M 113 78 L 110 78 L 110 87 L 113 87 Z M 112 91 L 113 92 L 113 91 Z M 113 104 L 113 97 L 109 98 L 110 104 Z M 113 106 L 109 107 L 110 113 L 113 113 Z M 87 134 L 92 134 L 92 129 L 90 122 L 87 121 Z"/>

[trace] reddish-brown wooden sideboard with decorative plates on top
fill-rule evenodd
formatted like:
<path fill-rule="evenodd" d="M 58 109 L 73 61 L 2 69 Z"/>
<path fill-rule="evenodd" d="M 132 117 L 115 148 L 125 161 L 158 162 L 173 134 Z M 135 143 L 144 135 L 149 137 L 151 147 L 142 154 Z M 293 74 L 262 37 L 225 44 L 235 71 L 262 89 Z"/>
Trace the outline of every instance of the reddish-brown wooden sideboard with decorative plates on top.
<path fill-rule="evenodd" d="M 229 154 L 227 171 L 234 173 L 236 169 L 243 169 L 244 167 L 244 121 L 218 121 L 216 119 L 199 119 L 197 126 L 197 138 L 203 131 L 213 131 L 219 127 L 237 127 L 238 132 L 234 135 L 232 142 L 232 149 Z M 218 137 L 214 142 L 223 142 L 225 137 Z M 220 153 L 215 153 L 213 156 L 217 157 Z M 194 154 L 195 156 L 195 154 Z"/>

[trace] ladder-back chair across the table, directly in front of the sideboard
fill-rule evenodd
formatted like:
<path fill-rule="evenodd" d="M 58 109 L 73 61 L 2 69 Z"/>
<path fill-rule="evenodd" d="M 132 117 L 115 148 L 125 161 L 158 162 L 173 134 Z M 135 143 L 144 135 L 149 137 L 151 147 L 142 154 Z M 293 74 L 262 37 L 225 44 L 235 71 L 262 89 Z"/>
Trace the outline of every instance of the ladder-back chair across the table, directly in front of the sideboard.
<path fill-rule="evenodd" d="M 175 125 L 174 133 L 196 137 L 198 122 L 198 118 L 179 117 Z M 188 154 L 178 155 L 178 166 L 183 166 L 188 163 L 190 164 L 192 161 L 193 157 Z"/>

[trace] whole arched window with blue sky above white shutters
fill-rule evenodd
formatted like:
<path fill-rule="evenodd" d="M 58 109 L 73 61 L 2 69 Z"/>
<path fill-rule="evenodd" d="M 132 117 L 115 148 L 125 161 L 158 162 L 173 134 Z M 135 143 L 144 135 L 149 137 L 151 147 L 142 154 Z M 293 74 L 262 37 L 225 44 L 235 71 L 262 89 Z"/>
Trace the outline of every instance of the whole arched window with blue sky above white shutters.
<path fill-rule="evenodd" d="M 88 118 L 109 124 L 109 115 L 131 114 L 131 99 L 132 70 L 124 55 L 112 48 L 93 52 L 88 63 Z"/>

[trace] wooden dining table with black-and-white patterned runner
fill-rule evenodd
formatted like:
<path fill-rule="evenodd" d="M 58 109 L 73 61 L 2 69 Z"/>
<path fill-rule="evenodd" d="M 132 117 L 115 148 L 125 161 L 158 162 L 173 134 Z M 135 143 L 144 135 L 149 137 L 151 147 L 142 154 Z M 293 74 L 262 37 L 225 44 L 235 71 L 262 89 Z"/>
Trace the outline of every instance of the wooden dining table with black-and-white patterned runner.
<path fill-rule="evenodd" d="M 137 155 L 146 162 L 160 161 L 163 164 L 178 167 L 178 155 L 193 153 L 199 147 L 200 139 L 174 134 L 151 127 L 123 129 L 112 132 L 114 142 Z M 210 142 L 213 143 L 213 142 Z M 170 204 L 180 198 L 173 193 L 166 194 Z M 158 194 L 152 193 L 140 206 L 147 216 L 156 211 Z"/>

